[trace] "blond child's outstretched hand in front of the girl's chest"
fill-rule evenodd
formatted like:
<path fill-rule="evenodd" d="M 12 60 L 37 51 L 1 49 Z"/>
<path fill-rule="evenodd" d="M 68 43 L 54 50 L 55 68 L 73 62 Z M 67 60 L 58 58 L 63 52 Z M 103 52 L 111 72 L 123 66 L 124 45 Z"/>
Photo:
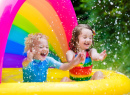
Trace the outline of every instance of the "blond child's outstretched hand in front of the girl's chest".
<path fill-rule="evenodd" d="M 73 56 L 71 63 L 73 64 L 73 66 L 76 66 L 80 64 L 81 62 L 83 62 L 85 60 L 84 58 L 85 58 L 85 54 L 82 51 L 76 57 Z"/>

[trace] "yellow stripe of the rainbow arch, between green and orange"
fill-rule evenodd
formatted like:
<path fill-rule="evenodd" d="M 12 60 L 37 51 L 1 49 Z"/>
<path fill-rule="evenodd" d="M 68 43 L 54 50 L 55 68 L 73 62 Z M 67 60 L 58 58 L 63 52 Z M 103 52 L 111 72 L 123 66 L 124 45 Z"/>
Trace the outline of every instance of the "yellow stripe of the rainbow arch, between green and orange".
<path fill-rule="evenodd" d="M 22 5 L 18 13 L 24 16 L 26 19 L 28 19 L 40 32 L 49 37 L 48 41 L 55 49 L 61 61 L 65 62 L 66 57 L 63 53 L 61 45 L 53 29 L 50 27 L 46 19 L 41 15 L 41 13 L 39 13 L 33 6 L 26 2 Z"/>

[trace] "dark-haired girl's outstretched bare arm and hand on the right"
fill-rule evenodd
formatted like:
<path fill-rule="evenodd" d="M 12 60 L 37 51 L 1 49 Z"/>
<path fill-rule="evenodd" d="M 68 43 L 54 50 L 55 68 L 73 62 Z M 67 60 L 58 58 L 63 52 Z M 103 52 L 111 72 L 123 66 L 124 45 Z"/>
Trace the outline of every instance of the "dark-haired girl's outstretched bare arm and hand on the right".
<path fill-rule="evenodd" d="M 98 53 L 96 49 L 92 48 L 90 50 L 90 56 L 91 56 L 92 60 L 94 60 L 94 61 L 98 61 L 98 60 L 103 61 L 105 59 L 105 57 L 107 56 L 107 54 L 106 54 L 106 50 L 104 50 L 101 53 Z"/>

